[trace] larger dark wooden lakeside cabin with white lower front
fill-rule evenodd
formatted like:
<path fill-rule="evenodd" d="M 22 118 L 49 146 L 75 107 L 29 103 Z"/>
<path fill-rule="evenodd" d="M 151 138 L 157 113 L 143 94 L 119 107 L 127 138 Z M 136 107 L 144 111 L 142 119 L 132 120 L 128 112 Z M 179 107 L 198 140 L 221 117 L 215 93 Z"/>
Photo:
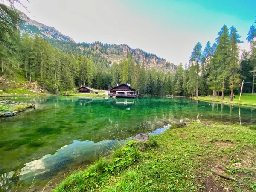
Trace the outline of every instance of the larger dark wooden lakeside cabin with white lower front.
<path fill-rule="evenodd" d="M 109 89 L 108 96 L 116 97 L 131 97 L 134 98 L 137 95 L 137 91 L 130 87 L 130 84 L 120 84 L 116 87 Z"/>

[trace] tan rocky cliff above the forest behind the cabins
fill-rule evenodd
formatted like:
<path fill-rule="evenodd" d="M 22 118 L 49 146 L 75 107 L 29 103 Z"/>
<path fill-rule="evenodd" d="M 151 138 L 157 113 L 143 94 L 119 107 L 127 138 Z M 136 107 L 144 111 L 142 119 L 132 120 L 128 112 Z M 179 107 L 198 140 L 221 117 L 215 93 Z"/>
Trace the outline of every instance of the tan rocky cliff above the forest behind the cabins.
<path fill-rule="evenodd" d="M 88 44 L 87 44 L 88 45 Z M 132 55 L 134 60 L 139 64 L 145 63 L 146 69 L 156 68 L 157 71 L 162 71 L 167 73 L 175 73 L 177 66 L 167 62 L 163 58 L 159 58 L 157 55 L 144 52 L 141 49 L 132 49 L 128 45 L 121 44 L 112 44 L 106 45 L 99 42 L 89 44 L 87 47 L 78 46 L 79 49 L 90 50 L 93 54 L 100 54 L 102 57 L 106 58 L 110 64 L 120 63 L 123 58 L 126 58 L 129 54 Z"/>

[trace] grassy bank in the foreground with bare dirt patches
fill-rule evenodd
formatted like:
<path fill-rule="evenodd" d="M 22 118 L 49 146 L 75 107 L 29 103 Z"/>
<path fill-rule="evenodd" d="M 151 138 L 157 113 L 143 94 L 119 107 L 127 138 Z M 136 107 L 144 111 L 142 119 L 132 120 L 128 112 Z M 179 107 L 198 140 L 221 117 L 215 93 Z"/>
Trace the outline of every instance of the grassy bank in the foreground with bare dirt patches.
<path fill-rule="evenodd" d="M 256 191 L 256 127 L 174 124 L 146 143 L 129 141 L 54 190 L 71 191 Z"/>

